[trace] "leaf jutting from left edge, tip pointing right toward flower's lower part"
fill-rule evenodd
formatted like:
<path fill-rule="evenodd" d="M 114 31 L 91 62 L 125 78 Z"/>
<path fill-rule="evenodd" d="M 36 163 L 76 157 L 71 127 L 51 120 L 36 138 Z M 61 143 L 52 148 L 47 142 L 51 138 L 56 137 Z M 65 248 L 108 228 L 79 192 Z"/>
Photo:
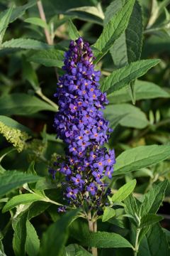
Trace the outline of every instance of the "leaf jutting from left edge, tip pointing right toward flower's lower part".
<path fill-rule="evenodd" d="M 39 179 L 39 176 L 25 174 L 21 171 L 5 171 L 4 174 L 0 174 L 0 196 L 19 188 L 24 183 L 33 183 Z"/>

